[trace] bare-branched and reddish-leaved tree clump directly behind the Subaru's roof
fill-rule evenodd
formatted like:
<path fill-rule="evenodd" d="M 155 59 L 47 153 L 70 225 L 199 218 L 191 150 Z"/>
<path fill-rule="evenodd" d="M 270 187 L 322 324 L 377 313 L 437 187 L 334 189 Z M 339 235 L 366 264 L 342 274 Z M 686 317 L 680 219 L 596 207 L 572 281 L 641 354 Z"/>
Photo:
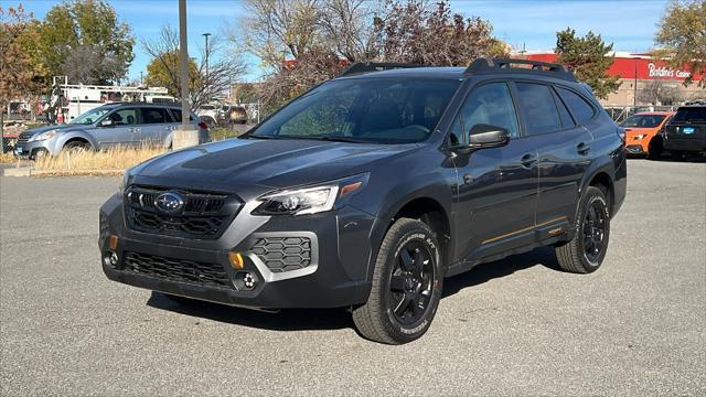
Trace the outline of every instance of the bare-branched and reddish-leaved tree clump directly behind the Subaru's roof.
<path fill-rule="evenodd" d="M 447 0 L 246 0 L 244 46 L 269 71 L 260 97 L 270 110 L 355 62 L 467 66 L 505 56 L 490 22 Z"/>

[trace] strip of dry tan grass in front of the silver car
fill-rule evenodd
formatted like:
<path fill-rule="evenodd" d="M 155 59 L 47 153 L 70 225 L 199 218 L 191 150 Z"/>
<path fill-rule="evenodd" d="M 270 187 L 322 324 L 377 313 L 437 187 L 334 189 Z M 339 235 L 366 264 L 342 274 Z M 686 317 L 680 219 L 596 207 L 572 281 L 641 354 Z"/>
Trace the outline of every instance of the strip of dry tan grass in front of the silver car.
<path fill-rule="evenodd" d="M 57 157 L 44 157 L 34 163 L 35 170 L 57 173 L 100 173 L 101 171 L 125 170 L 145 160 L 162 154 L 163 148 L 143 147 L 139 149 L 116 148 L 101 151 L 64 151 Z"/>

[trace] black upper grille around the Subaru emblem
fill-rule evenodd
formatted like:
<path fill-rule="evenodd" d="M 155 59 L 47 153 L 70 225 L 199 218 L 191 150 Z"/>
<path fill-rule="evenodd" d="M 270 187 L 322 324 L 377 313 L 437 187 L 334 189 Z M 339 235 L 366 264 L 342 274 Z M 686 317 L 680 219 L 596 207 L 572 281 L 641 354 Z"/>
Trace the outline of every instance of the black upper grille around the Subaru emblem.
<path fill-rule="evenodd" d="M 175 213 L 156 205 L 159 195 L 167 192 L 183 197 L 183 206 Z M 225 194 L 145 186 L 130 186 L 125 201 L 128 225 L 135 230 L 203 239 L 218 238 L 240 207 L 237 198 Z"/>

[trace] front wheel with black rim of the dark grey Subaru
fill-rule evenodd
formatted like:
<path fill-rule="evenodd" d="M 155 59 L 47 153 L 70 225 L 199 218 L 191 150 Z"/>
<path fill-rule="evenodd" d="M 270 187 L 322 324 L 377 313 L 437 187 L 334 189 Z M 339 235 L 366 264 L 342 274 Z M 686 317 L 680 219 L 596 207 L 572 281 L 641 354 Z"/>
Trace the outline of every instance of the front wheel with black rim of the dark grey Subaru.
<path fill-rule="evenodd" d="M 397 219 L 377 253 L 368 300 L 353 310 L 357 331 L 387 344 L 419 339 L 439 307 L 442 270 L 439 244 L 429 226 Z"/>

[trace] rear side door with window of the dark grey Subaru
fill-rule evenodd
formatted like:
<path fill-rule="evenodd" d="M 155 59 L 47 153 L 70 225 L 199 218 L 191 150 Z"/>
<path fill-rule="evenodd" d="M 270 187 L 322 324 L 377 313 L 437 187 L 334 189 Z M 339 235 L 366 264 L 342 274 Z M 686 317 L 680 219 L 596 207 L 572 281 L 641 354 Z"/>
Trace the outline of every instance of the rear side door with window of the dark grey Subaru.
<path fill-rule="evenodd" d="M 574 90 L 563 93 L 567 103 L 576 107 L 571 116 L 565 100 L 552 85 L 516 82 L 515 87 L 525 132 L 538 151 L 535 232 L 537 239 L 545 239 L 574 224 L 579 189 L 590 163 L 593 140 L 584 124 L 593 118 L 595 110 Z"/>

